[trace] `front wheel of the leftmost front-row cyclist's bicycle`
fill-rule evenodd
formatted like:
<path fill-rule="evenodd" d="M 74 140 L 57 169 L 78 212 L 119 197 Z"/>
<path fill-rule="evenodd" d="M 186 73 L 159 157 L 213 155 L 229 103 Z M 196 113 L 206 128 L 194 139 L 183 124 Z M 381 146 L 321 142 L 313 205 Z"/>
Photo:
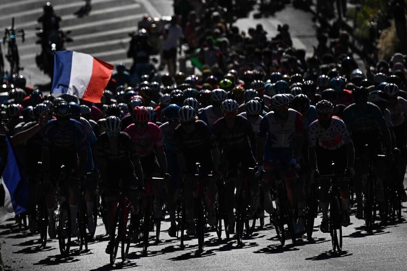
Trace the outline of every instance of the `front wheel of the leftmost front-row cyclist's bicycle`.
<path fill-rule="evenodd" d="M 67 201 L 60 206 L 57 229 L 60 252 L 63 257 L 66 257 L 71 247 L 71 210 Z"/>

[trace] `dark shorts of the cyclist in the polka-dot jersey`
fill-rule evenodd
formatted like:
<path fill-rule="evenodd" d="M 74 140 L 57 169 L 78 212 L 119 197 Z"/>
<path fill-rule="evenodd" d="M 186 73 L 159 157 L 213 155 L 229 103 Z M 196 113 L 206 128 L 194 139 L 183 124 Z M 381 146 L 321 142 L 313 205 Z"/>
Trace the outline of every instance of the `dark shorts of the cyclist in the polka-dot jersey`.
<path fill-rule="evenodd" d="M 330 175 L 335 173 L 340 175 L 345 172 L 347 168 L 347 151 L 345 146 L 336 150 L 327 150 L 317 145 L 315 152 L 319 174 Z M 335 168 L 333 168 L 332 162 L 334 162 Z"/>

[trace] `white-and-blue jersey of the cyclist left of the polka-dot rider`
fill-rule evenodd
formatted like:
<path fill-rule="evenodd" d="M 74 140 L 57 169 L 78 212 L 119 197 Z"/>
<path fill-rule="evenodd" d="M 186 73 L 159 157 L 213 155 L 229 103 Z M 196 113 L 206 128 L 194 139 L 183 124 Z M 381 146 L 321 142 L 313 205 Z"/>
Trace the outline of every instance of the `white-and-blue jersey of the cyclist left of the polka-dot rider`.
<path fill-rule="evenodd" d="M 266 149 L 290 148 L 294 134 L 301 136 L 303 131 L 302 115 L 293 109 L 288 109 L 288 119 L 283 125 L 279 123 L 274 112 L 269 112 L 260 122 L 259 138 L 266 139 Z"/>

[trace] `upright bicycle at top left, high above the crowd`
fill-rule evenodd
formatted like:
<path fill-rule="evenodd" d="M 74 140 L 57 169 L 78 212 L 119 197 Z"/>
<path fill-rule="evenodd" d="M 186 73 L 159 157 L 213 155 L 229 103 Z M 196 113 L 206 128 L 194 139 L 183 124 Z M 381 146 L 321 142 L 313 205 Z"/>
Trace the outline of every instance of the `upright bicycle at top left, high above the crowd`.
<path fill-rule="evenodd" d="M 14 28 L 14 17 L 11 19 L 11 28 L 6 28 L 3 43 L 7 41 L 7 54 L 6 59 L 10 62 L 10 74 L 19 74 L 22 68 L 20 67 L 20 57 L 18 55 L 17 37 L 25 41 L 25 33 L 23 29 Z"/>

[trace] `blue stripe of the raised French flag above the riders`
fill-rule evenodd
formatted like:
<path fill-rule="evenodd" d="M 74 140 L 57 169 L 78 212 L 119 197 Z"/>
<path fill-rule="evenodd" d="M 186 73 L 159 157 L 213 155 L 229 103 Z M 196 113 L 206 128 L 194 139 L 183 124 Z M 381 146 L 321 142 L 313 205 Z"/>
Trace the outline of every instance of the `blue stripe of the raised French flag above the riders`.
<path fill-rule="evenodd" d="M 57 51 L 54 57 L 54 75 L 51 93 L 67 93 L 71 78 L 72 51 Z"/>

